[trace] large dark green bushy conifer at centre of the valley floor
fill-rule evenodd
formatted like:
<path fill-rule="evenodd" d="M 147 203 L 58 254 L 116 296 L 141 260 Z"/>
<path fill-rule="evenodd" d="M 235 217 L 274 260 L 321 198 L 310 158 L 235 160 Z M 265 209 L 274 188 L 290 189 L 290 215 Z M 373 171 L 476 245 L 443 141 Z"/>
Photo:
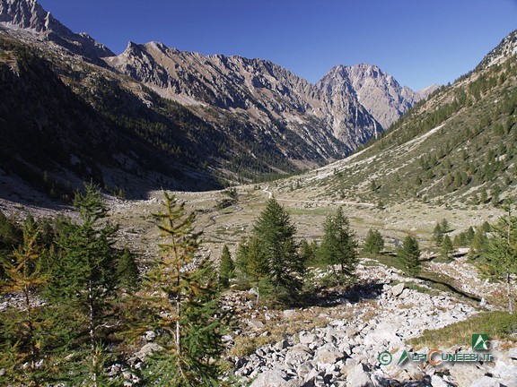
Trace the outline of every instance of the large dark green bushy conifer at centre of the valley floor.
<path fill-rule="evenodd" d="M 253 229 L 249 265 L 255 268 L 255 279 L 270 286 L 277 301 L 292 300 L 302 289 L 304 265 L 295 234 L 289 213 L 275 198 L 269 199 Z"/>

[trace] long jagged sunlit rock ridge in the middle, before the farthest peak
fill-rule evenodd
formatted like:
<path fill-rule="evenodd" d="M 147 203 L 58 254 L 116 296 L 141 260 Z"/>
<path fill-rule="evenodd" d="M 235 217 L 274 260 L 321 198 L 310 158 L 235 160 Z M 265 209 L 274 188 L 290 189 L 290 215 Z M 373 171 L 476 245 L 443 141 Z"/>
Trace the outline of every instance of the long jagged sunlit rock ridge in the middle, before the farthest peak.
<path fill-rule="evenodd" d="M 201 56 L 151 42 L 129 43 L 106 61 L 180 103 L 223 108 L 256 125 L 285 126 L 306 140 L 323 134 L 346 147 L 320 153 L 344 155 L 381 131 L 381 125 L 350 90 L 323 90 L 284 68 L 241 56 Z"/>

